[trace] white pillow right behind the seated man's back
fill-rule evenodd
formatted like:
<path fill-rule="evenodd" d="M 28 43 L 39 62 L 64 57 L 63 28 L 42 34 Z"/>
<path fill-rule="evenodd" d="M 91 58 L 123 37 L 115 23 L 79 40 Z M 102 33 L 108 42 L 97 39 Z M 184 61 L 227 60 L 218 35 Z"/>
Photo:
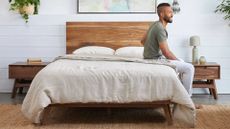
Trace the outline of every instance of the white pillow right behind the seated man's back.
<path fill-rule="evenodd" d="M 143 58 L 144 47 L 122 47 L 115 51 L 115 55 L 123 57 Z"/>

